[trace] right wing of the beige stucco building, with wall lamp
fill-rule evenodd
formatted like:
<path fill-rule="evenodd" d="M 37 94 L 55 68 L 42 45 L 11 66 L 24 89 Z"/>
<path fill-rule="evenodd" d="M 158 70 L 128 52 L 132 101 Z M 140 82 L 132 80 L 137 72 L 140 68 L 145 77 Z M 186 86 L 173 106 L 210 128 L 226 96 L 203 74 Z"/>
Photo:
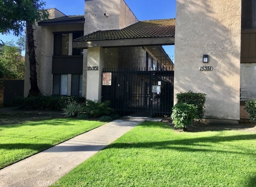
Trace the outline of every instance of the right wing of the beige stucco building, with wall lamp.
<path fill-rule="evenodd" d="M 207 117 L 248 118 L 244 103 L 256 98 L 256 1 L 176 2 L 174 94 L 207 94 Z"/>

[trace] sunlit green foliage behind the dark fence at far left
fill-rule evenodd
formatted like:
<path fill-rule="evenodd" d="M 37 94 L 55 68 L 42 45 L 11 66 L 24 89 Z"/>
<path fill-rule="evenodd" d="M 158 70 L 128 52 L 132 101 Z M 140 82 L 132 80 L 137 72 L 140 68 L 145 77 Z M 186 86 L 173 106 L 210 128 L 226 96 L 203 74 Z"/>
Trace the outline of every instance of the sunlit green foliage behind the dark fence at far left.
<path fill-rule="evenodd" d="M 25 58 L 18 47 L 2 46 L 0 49 L 0 80 L 23 80 Z"/>

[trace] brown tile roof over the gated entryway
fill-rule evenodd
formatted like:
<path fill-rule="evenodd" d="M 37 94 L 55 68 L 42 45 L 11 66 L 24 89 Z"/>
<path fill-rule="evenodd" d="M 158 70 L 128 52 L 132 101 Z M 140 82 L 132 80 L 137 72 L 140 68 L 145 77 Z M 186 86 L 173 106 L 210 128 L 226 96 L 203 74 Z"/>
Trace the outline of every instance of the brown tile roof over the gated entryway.
<path fill-rule="evenodd" d="M 86 36 L 76 38 L 75 42 L 100 40 L 118 40 L 132 38 L 173 37 L 175 34 L 175 19 L 139 21 L 121 30 L 96 31 Z"/>

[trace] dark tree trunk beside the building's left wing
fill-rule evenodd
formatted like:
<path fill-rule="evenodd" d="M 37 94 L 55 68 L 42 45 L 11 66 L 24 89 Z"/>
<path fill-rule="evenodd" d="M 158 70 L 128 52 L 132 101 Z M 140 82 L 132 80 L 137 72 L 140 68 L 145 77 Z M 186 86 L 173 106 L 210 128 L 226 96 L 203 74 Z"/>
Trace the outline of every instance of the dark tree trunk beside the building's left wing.
<path fill-rule="evenodd" d="M 28 93 L 28 97 L 30 96 L 38 96 L 40 94 L 40 90 L 37 85 L 37 74 L 36 74 L 36 53 L 35 53 L 35 40 L 33 35 L 33 27 L 32 24 L 26 24 L 26 33 L 27 33 L 27 44 L 28 44 L 28 60 L 30 67 L 30 90 Z"/>

